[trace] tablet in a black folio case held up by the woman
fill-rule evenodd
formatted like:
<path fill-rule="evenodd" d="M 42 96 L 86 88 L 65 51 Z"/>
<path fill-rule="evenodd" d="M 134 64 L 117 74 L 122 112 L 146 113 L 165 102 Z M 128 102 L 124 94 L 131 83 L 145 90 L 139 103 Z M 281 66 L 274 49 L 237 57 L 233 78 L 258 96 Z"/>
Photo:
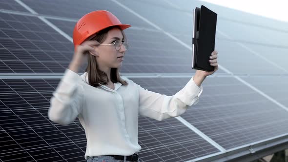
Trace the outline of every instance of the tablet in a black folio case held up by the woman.
<path fill-rule="evenodd" d="M 213 71 L 209 57 L 215 48 L 217 14 L 204 5 L 193 14 L 192 69 Z"/>

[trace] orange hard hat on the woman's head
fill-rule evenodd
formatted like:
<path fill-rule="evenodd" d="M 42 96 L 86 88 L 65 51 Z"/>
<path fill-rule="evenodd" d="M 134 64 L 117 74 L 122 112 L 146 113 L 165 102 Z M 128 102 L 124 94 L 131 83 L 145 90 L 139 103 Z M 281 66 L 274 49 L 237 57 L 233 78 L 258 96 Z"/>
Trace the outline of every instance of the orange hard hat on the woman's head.
<path fill-rule="evenodd" d="M 81 44 L 93 34 L 110 26 L 119 26 L 124 30 L 131 25 L 122 24 L 115 15 L 105 10 L 93 11 L 84 15 L 80 20 L 78 20 L 74 27 L 74 47 L 76 48 L 77 45 Z"/>

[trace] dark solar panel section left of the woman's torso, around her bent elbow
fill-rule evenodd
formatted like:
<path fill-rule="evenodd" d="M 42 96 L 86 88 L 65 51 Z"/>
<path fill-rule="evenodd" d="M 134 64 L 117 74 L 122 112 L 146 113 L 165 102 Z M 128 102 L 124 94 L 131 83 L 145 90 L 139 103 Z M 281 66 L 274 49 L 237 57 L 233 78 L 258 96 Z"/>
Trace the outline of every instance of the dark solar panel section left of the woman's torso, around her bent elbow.
<path fill-rule="evenodd" d="M 1 80 L 0 127 L 4 138 L 0 143 L 6 143 L 3 153 L 21 154 L 17 157 L 21 161 L 83 160 L 86 141 L 83 128 L 76 124 L 79 121 L 60 125 L 48 120 L 49 100 L 56 88 L 56 84 L 50 84 L 53 82 L 59 79 Z M 15 157 L 1 154 L 0 159 Z"/>

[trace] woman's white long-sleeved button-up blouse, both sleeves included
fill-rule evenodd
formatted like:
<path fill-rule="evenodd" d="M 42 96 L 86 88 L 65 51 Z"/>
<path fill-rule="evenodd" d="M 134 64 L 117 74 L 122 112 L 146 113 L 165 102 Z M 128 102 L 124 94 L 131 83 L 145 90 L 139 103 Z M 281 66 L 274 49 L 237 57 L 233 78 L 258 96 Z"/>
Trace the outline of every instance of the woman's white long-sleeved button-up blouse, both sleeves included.
<path fill-rule="evenodd" d="M 140 151 L 138 144 L 138 115 L 158 121 L 183 114 L 188 106 L 196 104 L 202 93 L 193 78 L 173 96 L 148 91 L 135 82 L 115 89 L 106 85 L 93 87 L 88 75 L 81 76 L 66 69 L 50 100 L 48 117 L 60 124 L 69 124 L 79 118 L 87 138 L 87 156 L 123 155 Z"/>

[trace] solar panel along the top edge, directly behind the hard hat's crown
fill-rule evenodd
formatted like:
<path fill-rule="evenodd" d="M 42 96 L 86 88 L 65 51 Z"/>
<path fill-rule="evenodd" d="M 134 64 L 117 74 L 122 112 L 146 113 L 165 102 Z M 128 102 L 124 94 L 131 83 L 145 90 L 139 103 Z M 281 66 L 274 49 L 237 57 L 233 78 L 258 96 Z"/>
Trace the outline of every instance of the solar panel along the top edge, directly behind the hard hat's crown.
<path fill-rule="evenodd" d="M 80 19 L 83 15 L 95 10 L 107 10 L 112 14 L 117 15 L 117 18 L 122 23 L 131 24 L 133 26 L 148 27 L 151 26 L 144 21 L 140 21 L 136 16 L 123 10 L 114 2 L 106 0 L 51 0 L 51 1 L 37 1 L 37 0 L 23 0 L 25 4 L 31 7 L 39 14 L 53 15 L 64 18 Z M 74 25 L 73 25 L 74 27 Z"/>

